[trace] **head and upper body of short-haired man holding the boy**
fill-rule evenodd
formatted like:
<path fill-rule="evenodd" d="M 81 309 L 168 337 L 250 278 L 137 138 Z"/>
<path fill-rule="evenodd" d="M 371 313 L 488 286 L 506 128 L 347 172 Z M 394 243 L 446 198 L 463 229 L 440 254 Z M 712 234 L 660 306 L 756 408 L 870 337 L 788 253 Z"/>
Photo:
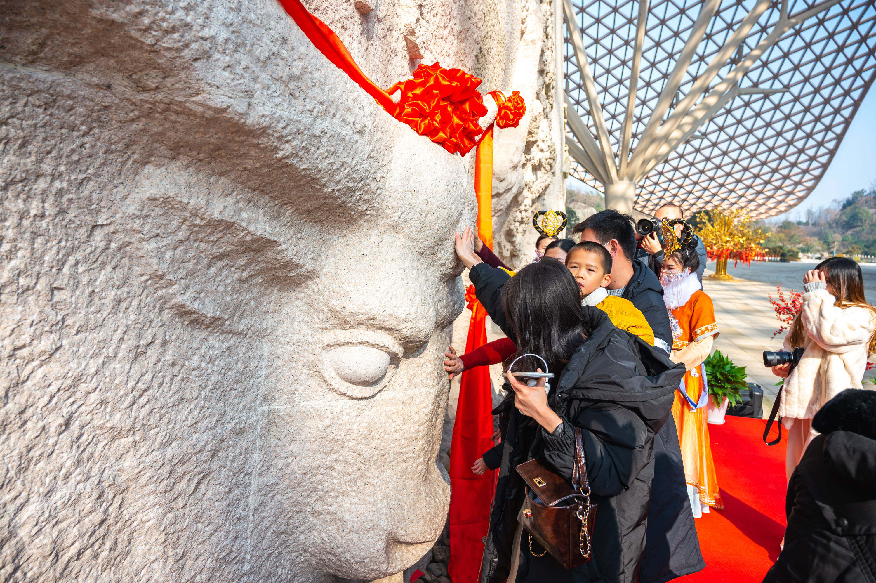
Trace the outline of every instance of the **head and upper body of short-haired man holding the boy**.
<path fill-rule="evenodd" d="M 672 329 L 663 303 L 663 287 L 653 271 L 641 261 L 635 261 L 636 231 L 632 217 L 617 210 L 601 210 L 576 224 L 572 232 L 581 233 L 582 241 L 593 241 L 608 249 L 611 283 L 606 291 L 632 302 L 654 331 L 654 346 L 669 352 Z"/>

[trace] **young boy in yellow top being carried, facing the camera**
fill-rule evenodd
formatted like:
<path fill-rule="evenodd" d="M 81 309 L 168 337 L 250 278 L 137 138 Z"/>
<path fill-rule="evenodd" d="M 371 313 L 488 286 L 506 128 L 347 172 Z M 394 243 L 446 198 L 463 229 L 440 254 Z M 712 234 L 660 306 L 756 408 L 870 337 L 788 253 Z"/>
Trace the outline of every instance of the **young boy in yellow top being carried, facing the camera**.
<path fill-rule="evenodd" d="M 611 323 L 621 330 L 635 334 L 649 345 L 654 344 L 654 333 L 645 316 L 632 302 L 618 295 L 608 295 L 611 283 L 611 253 L 592 241 L 583 241 L 569 250 L 566 267 L 575 276 L 581 288 L 582 303 L 608 314 Z"/>

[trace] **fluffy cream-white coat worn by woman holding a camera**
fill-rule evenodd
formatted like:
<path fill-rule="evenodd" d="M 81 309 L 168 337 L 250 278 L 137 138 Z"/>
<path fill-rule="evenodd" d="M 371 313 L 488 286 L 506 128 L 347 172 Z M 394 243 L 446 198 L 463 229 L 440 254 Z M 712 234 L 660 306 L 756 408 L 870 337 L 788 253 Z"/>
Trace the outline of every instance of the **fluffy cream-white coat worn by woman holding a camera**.
<path fill-rule="evenodd" d="M 837 308 L 834 302 L 836 298 L 826 289 L 803 295 L 805 352 L 785 380 L 779 406 L 786 427 L 795 418 L 812 418 L 840 391 L 861 388 L 876 315 L 872 309 L 858 306 Z M 794 350 L 787 338 L 785 350 Z"/>

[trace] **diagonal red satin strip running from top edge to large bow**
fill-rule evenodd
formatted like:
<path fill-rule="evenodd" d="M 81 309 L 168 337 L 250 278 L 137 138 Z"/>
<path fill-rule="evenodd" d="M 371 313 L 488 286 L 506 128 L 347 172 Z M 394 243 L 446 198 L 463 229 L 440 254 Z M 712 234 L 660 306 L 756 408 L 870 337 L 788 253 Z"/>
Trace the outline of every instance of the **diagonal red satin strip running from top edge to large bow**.
<path fill-rule="evenodd" d="M 292 17 L 296 25 L 299 25 L 307 39 L 314 43 L 314 46 L 319 49 L 326 59 L 330 60 L 337 68 L 350 76 L 350 79 L 357 82 L 359 87 L 365 90 L 368 95 L 374 97 L 374 101 L 380 104 L 391 116 L 395 116 L 398 109 L 383 89 L 380 89 L 371 79 L 362 72 L 362 69 L 353 60 L 350 51 L 343 45 L 341 39 L 338 39 L 334 31 L 325 25 L 319 18 L 307 11 L 304 4 L 300 0 L 279 0 L 286 13 Z"/>

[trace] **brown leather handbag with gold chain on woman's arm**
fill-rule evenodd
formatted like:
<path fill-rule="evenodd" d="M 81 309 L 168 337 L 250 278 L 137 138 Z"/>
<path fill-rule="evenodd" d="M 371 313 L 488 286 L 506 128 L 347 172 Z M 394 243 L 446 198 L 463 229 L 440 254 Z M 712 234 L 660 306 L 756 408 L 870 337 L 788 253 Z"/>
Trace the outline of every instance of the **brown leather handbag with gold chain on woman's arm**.
<path fill-rule="evenodd" d="M 589 561 L 597 505 L 590 504 L 581 430 L 575 428 L 571 486 L 539 459 L 520 464 L 517 473 L 526 482 L 526 501 L 517 520 L 529 533 L 529 551 L 536 557 L 544 555 L 544 552 L 540 555 L 533 552 L 534 538 L 567 569 Z"/>

